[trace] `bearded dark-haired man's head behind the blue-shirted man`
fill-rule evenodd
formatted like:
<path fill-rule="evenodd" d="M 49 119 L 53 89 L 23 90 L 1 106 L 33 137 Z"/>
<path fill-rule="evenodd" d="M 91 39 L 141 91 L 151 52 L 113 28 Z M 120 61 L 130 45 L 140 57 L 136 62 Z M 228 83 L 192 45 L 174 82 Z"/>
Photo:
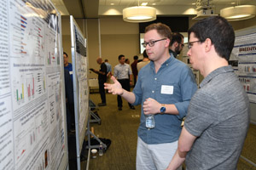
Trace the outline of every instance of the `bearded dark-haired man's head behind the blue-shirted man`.
<path fill-rule="evenodd" d="M 169 53 L 173 54 L 175 58 L 177 58 L 177 54 L 180 54 L 180 52 L 183 50 L 184 47 L 184 37 L 179 32 L 173 32 L 172 33 L 172 41 L 169 48 Z"/>

